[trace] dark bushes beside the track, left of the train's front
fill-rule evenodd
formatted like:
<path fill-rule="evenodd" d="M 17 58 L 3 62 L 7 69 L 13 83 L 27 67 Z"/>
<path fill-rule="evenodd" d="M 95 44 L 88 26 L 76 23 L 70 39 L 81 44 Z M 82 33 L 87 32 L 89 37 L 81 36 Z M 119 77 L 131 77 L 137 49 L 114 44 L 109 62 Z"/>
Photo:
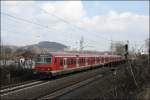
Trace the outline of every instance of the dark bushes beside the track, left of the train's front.
<path fill-rule="evenodd" d="M 23 69 L 20 66 L 10 65 L 10 66 L 1 66 L 1 83 L 2 85 L 13 84 L 19 81 L 31 80 L 32 69 Z"/>

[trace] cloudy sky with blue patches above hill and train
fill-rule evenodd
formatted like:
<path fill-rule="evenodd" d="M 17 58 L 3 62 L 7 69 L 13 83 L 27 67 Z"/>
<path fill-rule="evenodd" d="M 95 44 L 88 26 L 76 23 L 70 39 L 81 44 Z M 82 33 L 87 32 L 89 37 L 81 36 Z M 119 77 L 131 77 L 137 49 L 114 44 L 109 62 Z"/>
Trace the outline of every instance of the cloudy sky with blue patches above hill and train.
<path fill-rule="evenodd" d="M 149 38 L 149 1 L 2 1 L 1 38 L 24 46 L 54 41 L 109 50 L 112 41 L 141 47 Z"/>

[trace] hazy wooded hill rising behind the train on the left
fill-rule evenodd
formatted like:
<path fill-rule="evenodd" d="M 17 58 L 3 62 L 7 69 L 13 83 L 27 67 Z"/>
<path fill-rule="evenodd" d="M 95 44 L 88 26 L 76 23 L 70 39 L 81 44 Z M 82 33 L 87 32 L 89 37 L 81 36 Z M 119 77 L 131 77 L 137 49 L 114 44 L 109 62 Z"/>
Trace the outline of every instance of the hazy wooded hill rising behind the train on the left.
<path fill-rule="evenodd" d="M 57 42 L 42 41 L 38 44 L 32 44 L 27 46 L 14 46 L 14 45 L 3 45 L 2 55 L 0 59 L 9 58 L 12 59 L 18 56 L 31 56 L 42 52 L 57 52 L 64 51 L 67 46 Z M 7 56 L 6 56 L 7 55 Z"/>

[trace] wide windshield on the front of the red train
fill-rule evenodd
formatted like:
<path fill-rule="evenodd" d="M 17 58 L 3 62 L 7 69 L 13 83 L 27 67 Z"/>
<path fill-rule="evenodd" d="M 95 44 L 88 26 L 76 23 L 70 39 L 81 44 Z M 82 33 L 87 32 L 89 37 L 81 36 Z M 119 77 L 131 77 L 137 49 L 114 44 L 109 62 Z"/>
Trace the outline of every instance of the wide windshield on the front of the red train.
<path fill-rule="evenodd" d="M 39 64 L 51 64 L 51 63 L 52 63 L 52 57 L 48 56 L 48 55 L 40 55 L 36 59 L 36 65 L 39 65 Z"/>

